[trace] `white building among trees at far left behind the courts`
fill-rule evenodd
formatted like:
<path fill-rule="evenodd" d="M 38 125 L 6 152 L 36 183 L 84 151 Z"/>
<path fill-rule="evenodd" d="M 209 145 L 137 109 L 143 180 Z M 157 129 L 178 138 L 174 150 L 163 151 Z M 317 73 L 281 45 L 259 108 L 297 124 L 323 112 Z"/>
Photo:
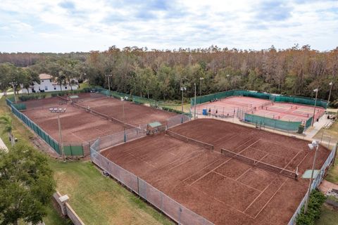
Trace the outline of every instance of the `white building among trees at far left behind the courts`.
<path fill-rule="evenodd" d="M 39 75 L 40 78 L 40 84 L 37 84 L 37 82 L 34 82 L 33 85 L 30 86 L 30 88 L 28 89 L 30 91 L 30 93 L 34 93 L 34 92 L 48 92 L 48 91 L 69 91 L 71 89 L 76 90 L 78 87 L 78 83 L 76 79 L 73 79 L 74 84 L 72 85 L 72 87 L 70 87 L 70 85 L 68 84 L 63 84 L 61 85 L 60 88 L 60 84 L 58 84 L 55 80 L 54 77 L 51 75 L 46 75 L 45 73 L 42 73 L 41 75 Z M 27 89 L 23 88 L 22 85 L 21 86 L 21 90 L 22 93 L 27 94 Z"/>

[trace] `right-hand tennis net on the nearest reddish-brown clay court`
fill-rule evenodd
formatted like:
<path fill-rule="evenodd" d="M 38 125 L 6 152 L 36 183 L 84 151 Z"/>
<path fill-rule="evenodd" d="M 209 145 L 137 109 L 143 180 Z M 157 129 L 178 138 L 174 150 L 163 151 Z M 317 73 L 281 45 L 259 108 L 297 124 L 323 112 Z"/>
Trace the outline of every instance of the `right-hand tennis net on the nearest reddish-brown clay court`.
<path fill-rule="evenodd" d="M 234 153 L 230 150 L 226 150 L 224 148 L 222 148 L 220 150 L 220 152 L 230 158 L 234 158 L 236 160 L 239 160 L 241 162 L 245 162 L 248 165 L 254 166 L 254 167 L 259 167 L 261 169 L 265 169 L 268 170 L 270 172 L 275 172 L 277 174 L 281 174 L 283 176 L 287 176 L 289 178 L 293 178 L 293 179 L 297 179 L 298 174 L 296 172 L 293 172 L 291 170 L 288 169 L 283 169 L 274 165 L 270 165 L 268 163 L 265 162 L 261 162 L 259 160 L 254 160 L 252 158 L 246 157 L 244 155 L 239 155 L 238 153 Z"/>

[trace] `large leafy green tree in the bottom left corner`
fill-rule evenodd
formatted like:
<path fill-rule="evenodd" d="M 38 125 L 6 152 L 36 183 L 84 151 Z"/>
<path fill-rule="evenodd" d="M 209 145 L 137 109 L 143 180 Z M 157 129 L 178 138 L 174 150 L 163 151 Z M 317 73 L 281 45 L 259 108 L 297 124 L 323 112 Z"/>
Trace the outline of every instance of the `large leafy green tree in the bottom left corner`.
<path fill-rule="evenodd" d="M 30 146 L 0 150 L 0 224 L 37 224 L 55 191 L 47 159 Z"/>

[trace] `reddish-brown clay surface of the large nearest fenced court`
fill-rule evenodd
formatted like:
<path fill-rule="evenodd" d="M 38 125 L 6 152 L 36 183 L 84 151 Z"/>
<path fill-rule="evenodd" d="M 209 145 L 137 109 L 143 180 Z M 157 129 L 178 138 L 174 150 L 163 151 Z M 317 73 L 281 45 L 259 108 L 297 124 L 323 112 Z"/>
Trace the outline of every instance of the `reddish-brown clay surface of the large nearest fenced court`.
<path fill-rule="evenodd" d="M 207 150 L 168 134 L 103 150 L 109 160 L 214 224 L 287 224 L 305 195 L 314 152 L 306 141 L 220 120 L 200 119 L 170 129 L 214 145 Z M 226 148 L 294 170 L 299 179 L 252 167 L 220 153 Z M 330 150 L 320 146 L 316 169 Z"/>

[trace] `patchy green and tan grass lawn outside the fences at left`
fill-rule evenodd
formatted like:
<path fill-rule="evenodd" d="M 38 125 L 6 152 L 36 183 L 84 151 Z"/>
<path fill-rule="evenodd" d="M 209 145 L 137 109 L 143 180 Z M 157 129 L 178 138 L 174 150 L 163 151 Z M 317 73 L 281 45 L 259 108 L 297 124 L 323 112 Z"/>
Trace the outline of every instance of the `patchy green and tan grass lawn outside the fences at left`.
<path fill-rule="evenodd" d="M 0 99 L 0 115 L 10 113 L 4 98 Z M 12 115 L 13 117 L 13 115 Z M 7 146 L 7 134 L 0 136 Z M 13 134 L 19 143 L 32 146 L 34 136 L 16 117 L 13 117 Z M 70 197 L 70 205 L 85 224 L 173 224 L 153 207 L 130 193 L 113 179 L 101 175 L 91 162 L 59 162 L 52 158 L 49 165 L 54 170 L 57 190 Z M 48 224 L 67 224 L 50 204 L 44 218 Z"/>

